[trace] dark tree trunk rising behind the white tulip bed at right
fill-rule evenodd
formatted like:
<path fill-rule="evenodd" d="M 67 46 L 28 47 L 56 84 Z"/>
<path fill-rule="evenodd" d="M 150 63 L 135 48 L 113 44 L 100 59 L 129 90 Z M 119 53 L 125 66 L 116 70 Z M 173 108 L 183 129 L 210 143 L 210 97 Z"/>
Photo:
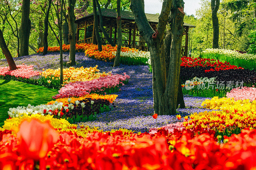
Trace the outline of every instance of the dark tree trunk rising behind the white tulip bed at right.
<path fill-rule="evenodd" d="M 212 48 L 219 48 L 219 19 L 217 17 L 219 7 L 220 0 L 211 0 L 213 26 Z"/>

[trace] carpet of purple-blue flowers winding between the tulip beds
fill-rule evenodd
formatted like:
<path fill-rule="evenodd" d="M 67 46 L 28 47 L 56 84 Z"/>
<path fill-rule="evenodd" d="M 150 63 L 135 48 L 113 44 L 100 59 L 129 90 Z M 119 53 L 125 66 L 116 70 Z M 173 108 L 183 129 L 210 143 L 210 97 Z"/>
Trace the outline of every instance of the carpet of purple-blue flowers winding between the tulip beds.
<path fill-rule="evenodd" d="M 69 60 L 69 54 L 63 54 L 63 62 Z M 25 63 L 35 65 L 34 69 L 57 69 L 60 63 L 60 54 L 50 53 L 48 55 L 29 55 L 14 58 L 16 64 Z M 65 65 L 65 64 L 64 64 Z M 121 91 L 115 100 L 115 107 L 109 112 L 97 114 L 97 120 L 89 122 L 79 122 L 78 125 L 98 127 L 104 131 L 111 129 L 131 129 L 135 132 L 148 132 L 151 128 L 162 127 L 164 125 L 179 122 L 175 115 L 158 115 L 157 120 L 152 117 L 153 109 L 153 90 L 152 73 L 149 67 L 145 65 L 120 65 L 113 68 L 113 63 L 95 60 L 86 57 L 84 53 L 76 53 L 76 67 L 94 67 L 98 65 L 100 72 L 112 71 L 113 74 L 122 74 L 126 72 L 130 76 L 127 85 L 121 86 Z M 0 66 L 8 66 L 6 60 L 0 60 Z M 64 67 L 65 68 L 65 67 Z M 178 114 L 182 116 L 180 122 L 183 122 L 185 115 L 195 112 L 204 112 L 201 104 L 204 97 L 184 96 L 186 108 L 178 109 Z M 79 127 L 79 126 L 78 126 Z"/>

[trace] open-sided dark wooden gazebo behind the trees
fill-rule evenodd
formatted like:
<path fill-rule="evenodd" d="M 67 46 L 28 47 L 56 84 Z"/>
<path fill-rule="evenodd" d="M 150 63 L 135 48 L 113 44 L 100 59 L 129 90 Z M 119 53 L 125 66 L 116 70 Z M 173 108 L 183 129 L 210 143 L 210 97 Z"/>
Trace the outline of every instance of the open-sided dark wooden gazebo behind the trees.
<path fill-rule="evenodd" d="M 114 43 L 116 44 L 117 38 L 117 25 L 116 25 L 116 10 L 113 9 L 101 9 L 102 17 L 103 17 L 103 26 L 107 33 L 109 33 L 109 37 L 112 38 Z M 99 13 L 97 13 L 99 15 Z M 93 13 L 84 16 L 83 18 L 79 18 L 75 21 L 77 24 L 76 30 L 76 43 L 93 43 L 97 44 L 95 30 L 94 30 L 94 18 Z M 150 26 L 156 31 L 158 24 L 157 14 L 146 14 L 148 22 Z M 148 47 L 144 41 L 140 41 L 140 33 L 136 26 L 134 17 L 132 12 L 130 11 L 121 11 L 122 18 L 122 33 L 123 33 L 123 46 L 129 48 L 136 48 L 143 51 L 148 51 Z M 99 20 L 99 19 L 98 19 Z M 185 46 L 182 46 L 183 55 L 188 54 L 188 29 L 193 26 L 191 24 L 184 23 L 184 33 L 186 35 Z M 99 27 L 99 32 L 101 33 L 102 44 L 107 44 L 106 38 L 102 35 L 102 31 Z"/>

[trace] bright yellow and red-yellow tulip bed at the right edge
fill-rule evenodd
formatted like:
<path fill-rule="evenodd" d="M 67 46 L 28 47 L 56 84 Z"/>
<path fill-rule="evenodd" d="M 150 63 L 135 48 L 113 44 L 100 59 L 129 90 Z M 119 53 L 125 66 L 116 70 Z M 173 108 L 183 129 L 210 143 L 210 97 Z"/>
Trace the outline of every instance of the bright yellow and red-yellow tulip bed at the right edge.
<path fill-rule="evenodd" d="M 201 126 L 203 129 L 215 130 L 222 136 L 239 134 L 241 129 L 256 129 L 256 101 L 233 100 L 230 98 L 214 97 L 202 103 L 204 108 L 218 109 L 221 111 L 204 111 L 190 115 L 187 122 L 183 122 L 186 129 Z"/>

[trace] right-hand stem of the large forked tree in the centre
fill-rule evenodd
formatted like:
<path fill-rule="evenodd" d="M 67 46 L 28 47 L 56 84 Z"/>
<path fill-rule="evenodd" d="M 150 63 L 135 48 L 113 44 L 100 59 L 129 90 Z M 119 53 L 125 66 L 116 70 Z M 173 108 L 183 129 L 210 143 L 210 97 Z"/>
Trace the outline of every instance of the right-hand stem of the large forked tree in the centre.
<path fill-rule="evenodd" d="M 170 53 L 170 65 L 168 70 L 168 78 L 166 80 L 166 89 L 162 98 L 166 112 L 176 114 L 176 103 L 179 89 L 180 63 L 181 63 L 181 44 L 184 32 L 183 19 L 185 13 L 183 11 L 183 0 L 174 0 L 171 10 L 171 32 L 172 44 Z"/>

